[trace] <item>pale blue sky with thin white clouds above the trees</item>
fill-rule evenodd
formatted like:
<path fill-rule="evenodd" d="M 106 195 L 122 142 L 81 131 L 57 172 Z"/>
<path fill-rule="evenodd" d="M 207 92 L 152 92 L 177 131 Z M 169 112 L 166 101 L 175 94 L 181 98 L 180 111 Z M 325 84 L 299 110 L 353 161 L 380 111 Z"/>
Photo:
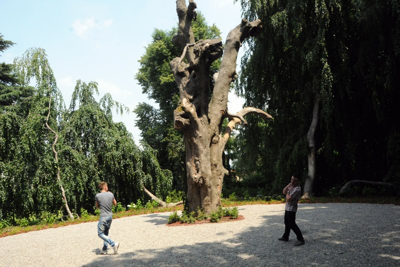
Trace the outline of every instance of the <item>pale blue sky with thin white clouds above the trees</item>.
<path fill-rule="evenodd" d="M 223 42 L 240 23 L 240 5 L 233 0 L 195 2 L 208 24 L 222 31 Z M 139 102 L 154 105 L 134 79 L 137 60 L 154 28 L 176 25 L 175 8 L 175 0 L 1 0 L 0 33 L 15 45 L 0 55 L 0 61 L 12 63 L 30 47 L 45 49 L 67 107 L 77 79 L 98 82 L 97 99 L 108 92 L 131 110 Z M 241 104 L 230 93 L 229 110 L 237 112 Z M 138 144 L 134 114 L 114 114 L 113 119 L 122 121 Z"/>

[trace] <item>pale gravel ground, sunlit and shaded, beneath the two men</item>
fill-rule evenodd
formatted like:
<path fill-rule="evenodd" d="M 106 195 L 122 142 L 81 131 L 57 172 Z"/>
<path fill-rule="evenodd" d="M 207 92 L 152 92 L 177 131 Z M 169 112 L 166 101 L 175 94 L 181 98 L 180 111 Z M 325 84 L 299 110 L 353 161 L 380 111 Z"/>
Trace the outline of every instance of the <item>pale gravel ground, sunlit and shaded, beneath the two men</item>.
<path fill-rule="evenodd" d="M 299 204 L 305 245 L 278 241 L 284 205 L 240 206 L 244 220 L 168 227 L 169 212 L 115 219 L 116 255 L 99 255 L 97 223 L 0 238 L 0 266 L 400 266 L 400 206 Z M 109 250 L 110 252 L 110 250 Z"/>

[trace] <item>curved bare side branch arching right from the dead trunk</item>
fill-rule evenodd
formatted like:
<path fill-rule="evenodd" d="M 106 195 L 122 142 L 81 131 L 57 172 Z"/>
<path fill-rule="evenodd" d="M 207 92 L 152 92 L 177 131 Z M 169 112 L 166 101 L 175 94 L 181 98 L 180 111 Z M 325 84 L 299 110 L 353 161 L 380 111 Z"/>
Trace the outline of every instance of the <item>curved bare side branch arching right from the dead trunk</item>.
<path fill-rule="evenodd" d="M 220 142 L 221 150 L 223 150 L 223 148 L 225 147 L 225 144 L 228 141 L 236 124 L 240 124 L 241 122 L 243 122 L 244 124 L 247 123 L 247 121 L 244 119 L 244 116 L 246 116 L 248 114 L 258 115 L 265 121 L 269 120 L 269 119 L 273 119 L 272 116 L 269 115 L 268 113 L 266 113 L 265 111 L 258 109 L 258 108 L 253 108 L 253 107 L 243 108 L 242 110 L 240 110 L 239 112 L 237 112 L 235 114 L 231 114 L 226 111 L 224 116 L 230 118 L 230 121 L 226 125 L 225 134 L 223 135 L 222 140 Z"/>

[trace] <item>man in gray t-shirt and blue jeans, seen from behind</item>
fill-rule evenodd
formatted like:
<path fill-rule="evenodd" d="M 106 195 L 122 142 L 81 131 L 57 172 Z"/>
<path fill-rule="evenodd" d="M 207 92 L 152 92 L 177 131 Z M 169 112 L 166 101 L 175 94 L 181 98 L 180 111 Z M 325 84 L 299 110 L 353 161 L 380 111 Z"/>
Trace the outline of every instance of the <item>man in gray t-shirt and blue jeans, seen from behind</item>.
<path fill-rule="evenodd" d="M 111 227 L 112 222 L 112 210 L 111 205 L 116 206 L 116 201 L 114 195 L 108 192 L 107 183 L 101 182 L 98 185 L 101 190 L 100 193 L 96 195 L 96 207 L 100 209 L 100 218 L 97 224 L 97 235 L 104 241 L 103 248 L 100 254 L 107 254 L 108 244 L 114 251 L 114 254 L 118 251 L 119 242 L 113 242 L 108 238 L 108 230 Z"/>

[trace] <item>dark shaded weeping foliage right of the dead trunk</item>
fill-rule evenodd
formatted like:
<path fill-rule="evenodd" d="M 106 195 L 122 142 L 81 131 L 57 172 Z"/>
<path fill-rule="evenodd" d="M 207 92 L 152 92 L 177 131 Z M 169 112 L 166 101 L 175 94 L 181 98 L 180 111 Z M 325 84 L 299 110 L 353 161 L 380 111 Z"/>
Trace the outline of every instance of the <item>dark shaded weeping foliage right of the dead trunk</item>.
<path fill-rule="evenodd" d="M 259 177 L 269 194 L 292 172 L 307 176 L 307 132 L 316 97 L 318 179 L 327 194 L 346 177 L 400 181 L 400 20 L 393 1 L 240 0 L 243 17 L 263 31 L 247 40 L 236 91 L 245 105 L 267 109 L 268 123 L 247 119 L 234 167 Z M 383 174 L 383 175 L 382 175 Z"/>

